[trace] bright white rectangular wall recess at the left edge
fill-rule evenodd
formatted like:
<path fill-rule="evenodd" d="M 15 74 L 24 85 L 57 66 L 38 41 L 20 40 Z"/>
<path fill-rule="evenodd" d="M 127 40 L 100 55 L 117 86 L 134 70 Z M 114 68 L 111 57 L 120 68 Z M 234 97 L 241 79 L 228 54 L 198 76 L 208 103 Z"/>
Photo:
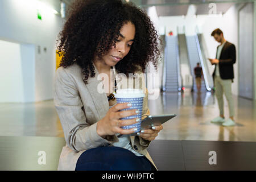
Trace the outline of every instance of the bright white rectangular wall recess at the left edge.
<path fill-rule="evenodd" d="M 15 53 L 14 53 L 15 52 Z M 32 53 L 31 53 L 32 52 Z M 35 99 L 35 47 L 0 40 L 0 102 Z"/>

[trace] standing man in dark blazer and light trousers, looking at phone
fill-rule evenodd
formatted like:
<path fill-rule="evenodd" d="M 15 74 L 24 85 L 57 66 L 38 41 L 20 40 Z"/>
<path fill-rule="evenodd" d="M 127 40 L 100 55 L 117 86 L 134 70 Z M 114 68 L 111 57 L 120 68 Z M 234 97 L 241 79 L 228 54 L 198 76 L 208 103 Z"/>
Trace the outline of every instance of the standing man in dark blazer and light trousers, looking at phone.
<path fill-rule="evenodd" d="M 213 72 L 214 86 L 216 88 L 216 97 L 220 116 L 212 119 L 211 122 L 222 122 L 222 126 L 234 126 L 234 103 L 232 98 L 231 84 L 234 78 L 233 64 L 236 63 L 236 47 L 234 44 L 226 41 L 223 32 L 217 28 L 211 34 L 214 39 L 220 43 L 217 47 L 216 59 L 209 59 L 215 65 Z M 224 118 L 224 100 L 223 93 L 229 105 L 229 119 Z"/>

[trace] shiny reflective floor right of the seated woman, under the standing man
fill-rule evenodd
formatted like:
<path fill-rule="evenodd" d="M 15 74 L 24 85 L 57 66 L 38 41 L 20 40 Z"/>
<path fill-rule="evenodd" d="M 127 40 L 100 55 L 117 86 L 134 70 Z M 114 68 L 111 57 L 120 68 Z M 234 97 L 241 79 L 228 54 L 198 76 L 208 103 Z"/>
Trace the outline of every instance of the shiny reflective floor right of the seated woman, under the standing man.
<path fill-rule="evenodd" d="M 224 97 L 225 98 L 225 97 Z M 151 114 L 176 113 L 177 117 L 164 123 L 156 139 L 256 141 L 256 102 L 234 96 L 236 126 L 224 127 L 210 123 L 219 114 L 217 99 L 210 92 L 163 93 L 150 100 Z M 225 118 L 229 117 L 224 102 Z"/>

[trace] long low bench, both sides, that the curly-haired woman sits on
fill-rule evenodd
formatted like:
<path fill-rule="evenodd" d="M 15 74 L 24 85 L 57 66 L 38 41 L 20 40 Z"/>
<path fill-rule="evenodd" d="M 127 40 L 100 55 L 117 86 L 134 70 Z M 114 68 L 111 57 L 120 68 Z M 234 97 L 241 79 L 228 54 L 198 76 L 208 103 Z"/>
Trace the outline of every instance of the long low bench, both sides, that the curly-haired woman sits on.
<path fill-rule="evenodd" d="M 61 137 L 0 137 L 0 170 L 56 170 Z M 46 154 L 46 164 L 38 160 Z M 209 164 L 215 151 L 217 164 Z M 148 147 L 158 170 L 255 170 L 256 142 L 154 140 Z"/>

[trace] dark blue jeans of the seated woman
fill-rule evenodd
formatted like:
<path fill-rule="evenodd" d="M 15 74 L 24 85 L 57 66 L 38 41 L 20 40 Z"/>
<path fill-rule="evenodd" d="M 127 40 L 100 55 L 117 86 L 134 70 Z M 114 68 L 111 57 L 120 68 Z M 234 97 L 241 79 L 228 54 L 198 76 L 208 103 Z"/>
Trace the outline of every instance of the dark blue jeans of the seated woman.
<path fill-rule="evenodd" d="M 97 147 L 86 150 L 76 163 L 76 171 L 154 171 L 145 156 L 137 156 L 121 147 Z"/>

